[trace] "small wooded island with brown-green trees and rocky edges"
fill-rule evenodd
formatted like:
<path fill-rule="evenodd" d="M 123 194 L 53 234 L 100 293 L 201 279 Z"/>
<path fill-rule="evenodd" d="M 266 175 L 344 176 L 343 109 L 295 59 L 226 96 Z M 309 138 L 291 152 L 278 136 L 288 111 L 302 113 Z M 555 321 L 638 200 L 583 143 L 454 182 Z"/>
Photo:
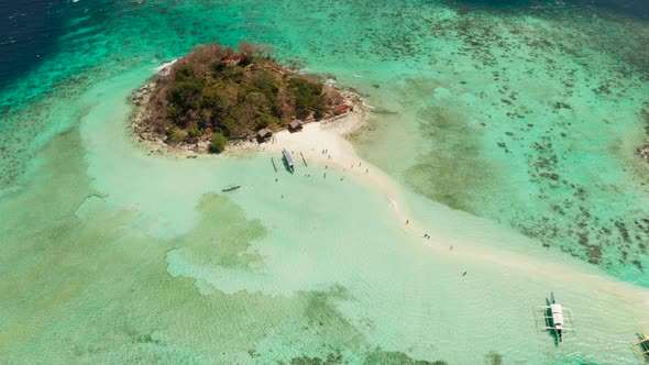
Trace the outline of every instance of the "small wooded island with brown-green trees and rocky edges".
<path fill-rule="evenodd" d="M 279 130 L 334 119 L 359 100 L 333 82 L 283 67 L 266 46 L 202 45 L 135 92 L 133 130 L 142 141 L 220 153 L 229 142 L 262 143 Z"/>

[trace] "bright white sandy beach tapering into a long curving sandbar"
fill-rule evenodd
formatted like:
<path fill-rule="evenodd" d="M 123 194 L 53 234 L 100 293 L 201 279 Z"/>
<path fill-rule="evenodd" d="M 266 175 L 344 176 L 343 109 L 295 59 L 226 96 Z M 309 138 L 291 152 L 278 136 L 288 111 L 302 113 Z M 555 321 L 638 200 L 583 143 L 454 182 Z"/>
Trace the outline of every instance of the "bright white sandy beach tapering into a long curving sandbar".
<path fill-rule="evenodd" d="M 229 153 L 251 152 L 252 148 L 257 153 L 268 153 L 280 158 L 282 150 L 286 148 L 294 157 L 296 170 L 299 170 L 302 165 L 301 156 L 304 155 L 307 164 L 314 163 L 326 166 L 328 169 L 348 174 L 350 178 L 371 184 L 385 195 L 395 213 L 396 224 L 402 225 L 409 234 L 420 237 L 424 245 L 435 250 L 438 254 L 448 256 L 449 259 L 469 259 L 483 264 L 492 263 L 520 270 L 520 274 L 529 277 L 544 276 L 552 277 L 559 283 L 592 286 L 612 296 L 626 297 L 627 300 L 636 301 L 640 307 L 649 303 L 649 292 L 641 288 L 592 272 L 584 273 L 572 267 L 565 267 L 561 263 L 530 261 L 529 257 L 521 256 L 519 253 L 498 247 L 485 247 L 481 244 L 468 243 L 466 246 L 455 245 L 454 250 L 449 250 L 449 242 L 436 236 L 436 232 L 427 230 L 424 224 L 414 218 L 398 184 L 380 168 L 363 161 L 345 139 L 346 135 L 365 124 L 366 117 L 366 111 L 352 112 L 333 122 L 307 123 L 300 132 L 280 131 L 265 143 L 256 146 L 246 144 L 245 147 L 234 147 Z M 430 236 L 424 239 L 425 233 Z"/>

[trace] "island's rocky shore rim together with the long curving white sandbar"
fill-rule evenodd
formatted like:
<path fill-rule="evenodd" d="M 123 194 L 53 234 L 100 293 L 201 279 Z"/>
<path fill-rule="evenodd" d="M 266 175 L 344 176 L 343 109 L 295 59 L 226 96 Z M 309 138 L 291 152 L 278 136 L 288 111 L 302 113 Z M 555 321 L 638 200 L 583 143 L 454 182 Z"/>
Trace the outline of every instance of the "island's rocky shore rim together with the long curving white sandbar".
<path fill-rule="evenodd" d="M 133 100 L 136 101 L 135 104 L 145 102 L 146 89 L 151 87 L 151 84 L 147 84 L 135 93 L 133 97 Z M 592 288 L 626 302 L 635 303 L 638 311 L 646 310 L 649 305 L 649 291 L 644 288 L 607 277 L 594 269 L 590 270 L 585 266 L 573 268 L 562 262 L 534 258 L 480 242 L 450 242 L 428 229 L 426 224 L 417 221 L 406 203 L 404 190 L 398 182 L 380 168 L 363 161 L 348 141 L 346 137 L 351 133 L 366 125 L 372 107 L 365 104 L 361 97 L 351 91 L 344 91 L 344 96 L 346 102 L 354 107 L 353 111 L 348 114 L 328 121 L 306 123 L 301 131 L 295 133 L 288 130 L 279 131 L 264 143 L 232 142 L 222 155 L 266 154 L 268 157 L 274 157 L 279 167 L 282 150 L 286 148 L 292 153 L 298 170 L 304 166 L 304 157 L 309 165 L 318 165 L 324 170 L 338 173 L 338 177 L 322 178 L 340 178 L 342 173 L 343 178 L 349 177 L 360 184 L 377 188 L 385 196 L 386 206 L 395 214 L 395 224 L 398 224 L 406 234 L 420 242 L 421 245 L 427 246 L 437 255 L 446 256 L 449 261 L 462 262 L 464 265 L 474 263 L 480 266 L 508 267 L 526 277 L 544 277 L 547 280 L 562 283 L 563 286 L 575 285 L 582 288 Z M 136 123 L 138 117 L 133 119 L 133 131 L 135 132 L 133 136 L 141 145 L 145 146 L 148 154 L 180 158 L 220 158 L 211 154 L 199 154 L 190 145 L 174 147 L 165 144 L 162 140 L 143 137 L 136 133 Z"/>

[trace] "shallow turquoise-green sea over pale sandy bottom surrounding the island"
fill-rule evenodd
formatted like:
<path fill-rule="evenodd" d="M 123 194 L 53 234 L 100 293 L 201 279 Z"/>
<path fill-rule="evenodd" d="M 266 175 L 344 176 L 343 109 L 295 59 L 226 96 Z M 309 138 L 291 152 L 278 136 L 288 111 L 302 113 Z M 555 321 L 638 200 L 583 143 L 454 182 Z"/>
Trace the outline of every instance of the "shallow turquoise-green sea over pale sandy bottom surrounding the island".
<path fill-rule="evenodd" d="M 47 5 L 0 89 L 0 363 L 638 363 L 645 10 L 502 3 Z M 239 40 L 365 97 L 353 146 L 417 229 L 346 172 L 139 150 L 131 91 Z M 551 290 L 560 345 L 532 316 Z"/>

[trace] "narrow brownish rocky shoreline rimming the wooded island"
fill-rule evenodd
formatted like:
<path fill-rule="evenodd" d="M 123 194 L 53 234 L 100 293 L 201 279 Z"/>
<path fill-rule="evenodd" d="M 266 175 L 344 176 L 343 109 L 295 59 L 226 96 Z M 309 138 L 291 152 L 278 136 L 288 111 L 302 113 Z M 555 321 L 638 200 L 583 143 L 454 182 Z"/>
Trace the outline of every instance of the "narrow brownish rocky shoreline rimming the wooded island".
<path fill-rule="evenodd" d="M 167 156 L 177 156 L 177 157 L 185 157 L 185 158 L 196 158 L 198 155 L 201 154 L 209 154 L 209 135 L 204 135 L 197 139 L 195 143 L 188 142 L 178 142 L 176 144 L 168 144 L 165 142 L 166 136 L 164 134 L 158 133 L 155 131 L 154 126 L 147 123 L 147 119 L 151 117 L 147 113 L 147 103 L 151 100 L 151 96 L 155 90 L 157 85 L 157 79 L 161 76 L 168 75 L 170 67 L 174 63 L 164 64 L 160 69 L 158 74 L 152 77 L 146 84 L 144 84 L 140 89 L 133 91 L 130 97 L 130 101 L 133 103 L 135 110 L 133 111 L 130 129 L 132 132 L 133 140 L 142 146 L 150 155 L 157 154 L 157 155 L 167 155 Z M 336 80 L 329 79 L 326 82 L 327 87 L 336 88 Z M 365 104 L 364 99 L 353 92 L 351 90 L 345 89 L 338 89 L 336 88 L 344 99 L 344 103 L 350 106 L 350 111 L 341 115 L 333 115 L 328 114 L 319 121 L 316 120 L 307 120 L 305 124 L 308 123 L 320 123 L 324 124 L 339 124 L 334 123 L 337 121 L 349 121 L 345 123 L 344 128 L 339 128 L 340 134 L 346 135 L 354 131 L 356 131 L 367 119 L 367 114 L 370 112 L 371 107 Z M 274 131 L 274 133 L 278 133 L 286 129 Z M 264 143 L 258 143 L 254 139 L 241 139 L 241 140 L 229 140 L 226 151 L 223 153 L 234 153 L 234 152 L 242 152 L 242 151 L 251 151 L 251 150 L 264 150 Z"/>

